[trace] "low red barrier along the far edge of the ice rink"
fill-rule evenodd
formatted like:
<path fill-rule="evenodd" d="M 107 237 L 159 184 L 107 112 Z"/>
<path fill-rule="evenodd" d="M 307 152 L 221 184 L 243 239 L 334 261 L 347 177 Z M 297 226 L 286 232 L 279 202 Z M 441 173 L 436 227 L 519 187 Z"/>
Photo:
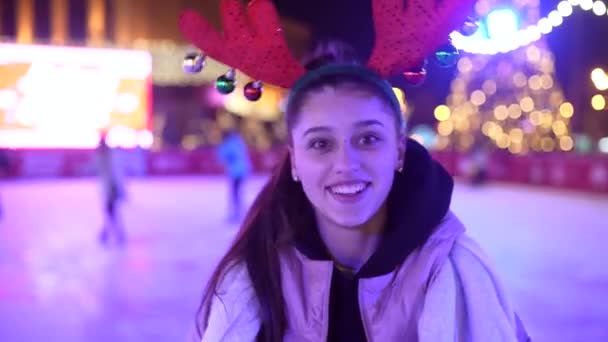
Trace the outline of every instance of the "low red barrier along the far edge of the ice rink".
<path fill-rule="evenodd" d="M 268 173 L 278 164 L 285 150 L 251 151 L 252 168 Z M 92 150 L 9 150 L 8 177 L 82 177 L 95 175 Z M 121 151 L 121 159 L 132 175 L 221 174 L 223 167 L 213 148 L 196 151 Z M 467 177 L 470 158 L 451 151 L 435 151 L 433 157 L 454 176 Z M 489 157 L 490 180 L 521 183 L 586 192 L 608 193 L 608 156 L 539 154 L 512 156 L 496 152 Z M 5 172 L 6 173 L 6 172 Z M 0 172 L 0 175 L 2 173 Z"/>

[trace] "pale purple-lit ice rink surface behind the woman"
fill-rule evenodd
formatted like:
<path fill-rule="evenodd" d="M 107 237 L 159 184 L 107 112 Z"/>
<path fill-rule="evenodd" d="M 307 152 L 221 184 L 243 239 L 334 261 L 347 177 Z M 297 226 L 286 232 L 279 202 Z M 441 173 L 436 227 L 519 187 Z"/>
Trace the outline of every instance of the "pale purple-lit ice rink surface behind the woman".
<path fill-rule="evenodd" d="M 263 177 L 245 184 L 247 202 Z M 0 341 L 185 341 L 237 231 L 220 177 L 133 179 L 129 241 L 102 247 L 95 179 L 0 183 Z M 533 341 L 608 341 L 608 196 L 458 184 Z"/>

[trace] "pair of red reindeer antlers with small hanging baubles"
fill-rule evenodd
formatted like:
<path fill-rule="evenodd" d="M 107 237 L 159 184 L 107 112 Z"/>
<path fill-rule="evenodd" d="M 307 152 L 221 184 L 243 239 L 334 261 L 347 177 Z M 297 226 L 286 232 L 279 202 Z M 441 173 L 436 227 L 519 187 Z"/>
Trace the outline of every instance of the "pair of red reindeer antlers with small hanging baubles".
<path fill-rule="evenodd" d="M 372 0 L 376 42 L 367 68 L 388 79 L 420 66 L 465 22 L 474 2 L 409 0 L 404 6 L 404 0 Z M 246 8 L 240 0 L 221 0 L 220 12 L 223 34 L 194 11 L 181 14 L 181 31 L 202 51 L 186 58 L 187 71 L 200 72 L 206 56 L 229 65 L 233 69 L 218 78 L 217 88 L 230 93 L 238 69 L 257 80 L 244 90 L 252 101 L 260 98 L 262 82 L 291 88 L 306 74 L 287 47 L 271 0 L 253 0 Z"/>

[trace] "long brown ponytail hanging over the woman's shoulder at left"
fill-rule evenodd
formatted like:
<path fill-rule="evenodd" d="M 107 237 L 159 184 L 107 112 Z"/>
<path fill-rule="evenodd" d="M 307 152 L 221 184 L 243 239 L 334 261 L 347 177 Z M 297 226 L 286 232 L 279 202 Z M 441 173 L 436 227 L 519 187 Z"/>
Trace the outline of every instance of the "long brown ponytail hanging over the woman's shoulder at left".
<path fill-rule="evenodd" d="M 199 307 L 199 336 L 206 328 L 212 297 L 223 275 L 244 262 L 260 304 L 262 341 L 281 341 L 287 326 L 281 289 L 279 253 L 291 245 L 296 232 L 310 222 L 312 207 L 291 177 L 287 150 L 253 202 L 228 252 L 213 272 Z"/>

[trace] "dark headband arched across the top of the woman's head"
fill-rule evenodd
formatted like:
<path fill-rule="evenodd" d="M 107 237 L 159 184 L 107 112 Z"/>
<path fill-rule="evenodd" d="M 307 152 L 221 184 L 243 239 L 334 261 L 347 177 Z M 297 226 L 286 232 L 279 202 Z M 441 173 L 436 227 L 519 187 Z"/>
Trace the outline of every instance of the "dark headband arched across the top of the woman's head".
<path fill-rule="evenodd" d="M 297 80 L 291 88 L 287 101 L 287 108 L 289 109 L 291 107 L 294 99 L 300 95 L 303 89 L 306 89 L 315 82 L 328 76 L 350 76 L 376 87 L 389 101 L 392 109 L 394 109 L 397 113 L 401 113 L 401 105 L 399 104 L 399 100 L 397 99 L 397 96 L 395 95 L 390 83 L 382 79 L 374 71 L 364 66 L 354 64 L 328 64 L 307 72 L 304 76 Z"/>

